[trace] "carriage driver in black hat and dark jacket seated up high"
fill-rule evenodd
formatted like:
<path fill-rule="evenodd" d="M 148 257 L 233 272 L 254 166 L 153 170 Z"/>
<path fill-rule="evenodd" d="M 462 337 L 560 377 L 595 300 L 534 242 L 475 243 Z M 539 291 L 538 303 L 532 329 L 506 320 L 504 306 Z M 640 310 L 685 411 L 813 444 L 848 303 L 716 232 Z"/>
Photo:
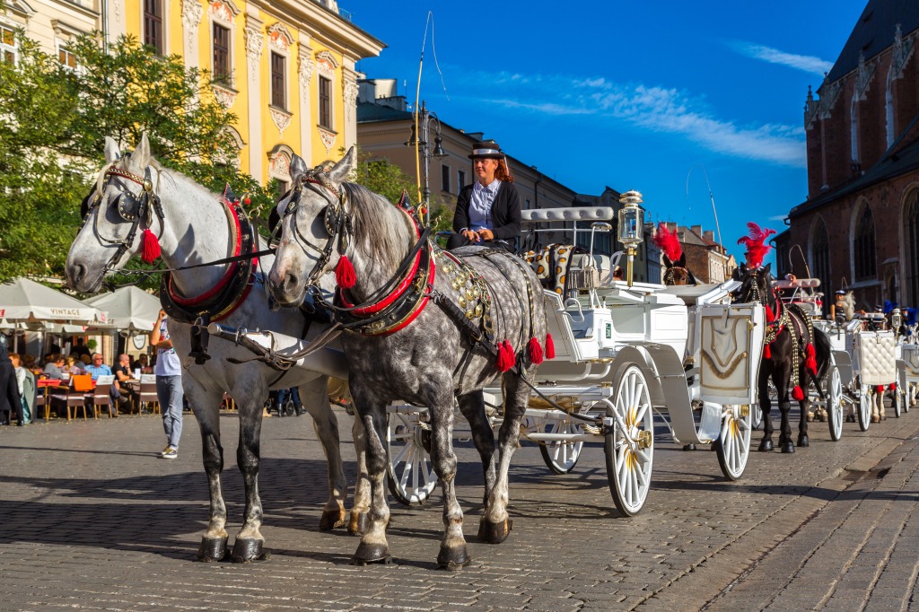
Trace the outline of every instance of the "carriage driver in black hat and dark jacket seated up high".
<path fill-rule="evenodd" d="M 516 251 L 520 196 L 497 142 L 478 142 L 470 155 L 476 181 L 459 190 L 447 248 L 477 245 Z"/>

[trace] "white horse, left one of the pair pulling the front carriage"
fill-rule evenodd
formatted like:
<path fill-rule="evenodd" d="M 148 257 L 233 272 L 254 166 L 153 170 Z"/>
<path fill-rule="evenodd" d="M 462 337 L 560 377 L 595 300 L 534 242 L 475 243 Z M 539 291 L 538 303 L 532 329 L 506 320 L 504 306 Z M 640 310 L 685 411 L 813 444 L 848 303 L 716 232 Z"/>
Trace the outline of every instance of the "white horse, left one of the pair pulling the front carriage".
<path fill-rule="evenodd" d="M 142 252 L 142 243 L 151 238 L 142 238 L 142 232 L 147 230 L 158 235 L 163 260 L 170 269 L 235 255 L 239 248 L 237 239 L 243 232 L 234 221 L 231 207 L 223 203 L 220 195 L 157 164 L 150 153 L 146 134 L 137 149 L 124 156 L 118 144 L 107 138 L 105 154 L 107 165 L 97 181 L 96 199 L 67 256 L 66 277 L 72 288 L 89 293 L 97 291 L 108 270 L 119 269 L 131 255 Z M 157 206 L 154 197 L 159 198 L 161 206 Z M 221 323 L 249 329 L 260 327 L 300 338 L 305 329 L 301 312 L 295 309 L 273 312 L 269 307 L 263 285 L 266 275 L 261 270 L 270 269 L 273 259 L 273 256 L 260 259 L 248 281 L 254 286 L 238 300 L 238 308 Z M 194 301 L 196 297 L 206 296 L 226 280 L 224 274 L 229 266 L 232 264 L 174 271 L 171 275 L 174 299 Z M 313 337 L 324 328 L 323 324 L 312 323 L 306 337 Z M 170 320 L 169 332 L 179 355 L 186 356 L 193 346 L 192 325 Z M 220 405 L 223 391 L 229 392 L 239 407 L 236 457 L 245 484 L 245 522 L 233 544 L 233 561 L 253 561 L 263 556 L 262 504 L 257 477 L 262 407 L 270 389 L 300 388 L 303 405 L 314 419 L 316 433 L 328 459 L 329 499 L 323 507 L 320 528 L 331 529 L 344 524 L 347 483 L 338 448 L 338 423 L 326 391 L 327 376 L 291 369 L 281 377 L 267 365 L 251 361 L 252 354 L 246 349 L 229 342 L 211 342 L 210 353 L 215 358 L 202 365 L 191 363 L 182 373 L 185 394 L 200 425 L 204 469 L 210 488 L 210 523 L 202 537 L 199 559 L 219 561 L 227 553 L 227 512 L 221 494 Z M 233 364 L 228 358 L 249 360 L 249 363 Z M 366 474 L 360 442 L 363 426 L 357 419 L 353 433 L 360 472 L 357 488 L 364 491 L 363 495 L 355 493 L 356 504 L 359 504 L 358 499 L 364 500 L 360 505 L 363 512 L 356 505 L 348 526 L 356 533 L 369 507 L 367 478 L 360 476 Z M 362 483 L 365 483 L 363 487 Z"/>

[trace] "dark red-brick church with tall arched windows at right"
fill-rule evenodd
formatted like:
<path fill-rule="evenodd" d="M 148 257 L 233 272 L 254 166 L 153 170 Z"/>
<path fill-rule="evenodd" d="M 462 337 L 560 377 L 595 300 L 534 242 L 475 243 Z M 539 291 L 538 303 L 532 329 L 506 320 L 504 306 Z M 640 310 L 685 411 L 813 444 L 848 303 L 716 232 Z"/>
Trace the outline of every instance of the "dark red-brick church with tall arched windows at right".
<path fill-rule="evenodd" d="M 808 91 L 808 198 L 775 239 L 780 274 L 804 277 L 804 255 L 826 295 L 852 289 L 860 309 L 919 306 L 917 42 L 919 2 L 868 2 Z"/>

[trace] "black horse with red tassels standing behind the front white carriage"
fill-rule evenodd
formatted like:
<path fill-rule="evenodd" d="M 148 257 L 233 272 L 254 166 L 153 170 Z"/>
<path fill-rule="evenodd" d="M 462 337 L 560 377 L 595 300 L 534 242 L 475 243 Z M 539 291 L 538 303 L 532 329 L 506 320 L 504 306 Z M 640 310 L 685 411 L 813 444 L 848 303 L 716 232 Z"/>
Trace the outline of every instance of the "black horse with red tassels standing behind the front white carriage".
<path fill-rule="evenodd" d="M 759 449 L 769 451 L 773 448 L 774 427 L 769 416 L 772 409 L 769 377 L 772 377 L 772 384 L 777 391 L 778 410 L 782 414 L 778 446 L 783 453 L 793 453 L 795 444 L 791 440 L 789 423 L 789 391 L 800 405 L 798 446 L 807 447 L 810 444 L 807 436 L 807 390 L 813 382 L 821 399 L 824 397 L 821 384 L 830 365 L 830 338 L 813 327 L 808 312 L 797 304 L 785 304 L 778 298 L 772 287 L 774 277 L 770 268 L 771 264 L 758 268 L 748 268 L 741 264 L 734 270 L 733 278 L 742 283 L 734 293 L 734 301 L 758 301 L 766 307 L 766 340 L 757 381 L 759 405 L 763 410 L 763 441 Z"/>

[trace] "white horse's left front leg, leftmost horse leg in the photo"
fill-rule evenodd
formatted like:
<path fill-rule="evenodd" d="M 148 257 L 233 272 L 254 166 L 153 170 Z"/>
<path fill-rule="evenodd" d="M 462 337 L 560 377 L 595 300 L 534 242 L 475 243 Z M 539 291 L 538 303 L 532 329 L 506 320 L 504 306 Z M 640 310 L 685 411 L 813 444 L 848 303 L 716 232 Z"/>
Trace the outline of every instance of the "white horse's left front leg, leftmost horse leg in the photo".
<path fill-rule="evenodd" d="M 210 519 L 201 536 L 200 561 L 222 561 L 227 556 L 227 506 L 221 492 L 223 447 L 221 446 L 221 394 L 210 393 L 190 375 L 185 377 L 185 394 L 201 430 L 201 456 L 208 476 Z"/>

